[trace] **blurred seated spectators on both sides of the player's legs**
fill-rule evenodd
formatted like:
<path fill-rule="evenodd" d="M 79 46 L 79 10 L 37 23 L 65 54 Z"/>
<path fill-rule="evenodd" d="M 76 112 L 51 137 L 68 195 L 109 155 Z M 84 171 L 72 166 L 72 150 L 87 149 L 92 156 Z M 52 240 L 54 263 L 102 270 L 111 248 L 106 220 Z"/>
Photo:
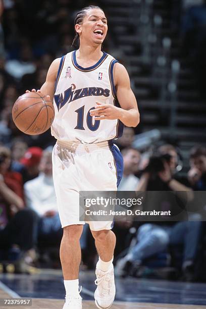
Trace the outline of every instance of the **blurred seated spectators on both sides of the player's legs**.
<path fill-rule="evenodd" d="M 179 149 L 162 143 L 152 152 L 150 148 L 140 152 L 132 146 L 134 138 L 134 130 L 126 127 L 117 141 L 124 159 L 119 190 L 180 191 L 180 195 L 186 193 L 180 200 L 189 201 L 194 191 L 206 190 L 205 147 L 196 145 L 190 150 L 190 169 L 183 177 L 179 172 Z M 27 266 L 60 266 L 62 228 L 52 177 L 52 150 L 53 145 L 29 147 L 20 137 L 13 140 L 11 147 L 0 145 L 0 259 L 13 261 L 16 272 L 25 272 Z M 173 200 L 167 196 L 164 200 L 167 210 L 172 211 Z M 151 208 L 159 209 L 157 203 L 152 201 Z M 181 279 L 199 279 L 198 267 L 205 249 L 203 222 L 195 218 L 171 222 L 116 221 L 114 231 L 118 276 L 143 276 L 145 267 L 152 262 L 152 269 L 172 265 Z M 80 242 L 84 267 L 93 268 L 97 255 L 87 225 Z"/>

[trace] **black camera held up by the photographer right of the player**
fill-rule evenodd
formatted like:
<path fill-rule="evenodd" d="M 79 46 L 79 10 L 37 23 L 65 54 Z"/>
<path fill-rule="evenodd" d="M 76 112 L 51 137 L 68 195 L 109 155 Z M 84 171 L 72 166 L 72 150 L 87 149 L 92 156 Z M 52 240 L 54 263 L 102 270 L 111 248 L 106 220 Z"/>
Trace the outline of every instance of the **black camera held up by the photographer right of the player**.
<path fill-rule="evenodd" d="M 147 167 L 144 169 L 144 172 L 150 173 L 150 174 L 158 174 L 159 172 L 162 172 L 165 170 L 164 163 L 169 163 L 172 156 L 169 155 L 169 153 L 166 153 L 165 155 L 157 154 L 153 155 L 149 159 L 149 163 Z"/>

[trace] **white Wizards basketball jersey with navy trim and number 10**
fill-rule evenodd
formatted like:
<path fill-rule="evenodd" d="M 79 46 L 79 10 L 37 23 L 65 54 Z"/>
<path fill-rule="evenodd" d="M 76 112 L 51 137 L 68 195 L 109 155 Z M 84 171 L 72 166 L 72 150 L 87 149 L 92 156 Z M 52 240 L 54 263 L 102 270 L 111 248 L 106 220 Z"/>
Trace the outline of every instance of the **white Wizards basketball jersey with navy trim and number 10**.
<path fill-rule="evenodd" d="M 54 96 L 55 120 L 51 127 L 56 139 L 94 143 L 122 135 L 121 121 L 99 121 L 89 113 L 96 101 L 119 106 L 113 78 L 116 62 L 104 53 L 95 65 L 83 68 L 76 61 L 76 50 L 62 57 Z"/>

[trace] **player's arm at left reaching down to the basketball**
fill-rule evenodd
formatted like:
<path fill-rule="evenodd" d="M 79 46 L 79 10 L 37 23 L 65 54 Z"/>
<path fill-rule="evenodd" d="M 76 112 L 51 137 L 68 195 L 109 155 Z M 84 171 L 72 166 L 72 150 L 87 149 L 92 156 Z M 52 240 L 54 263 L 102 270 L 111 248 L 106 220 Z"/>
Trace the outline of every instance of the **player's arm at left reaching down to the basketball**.
<path fill-rule="evenodd" d="M 37 90 L 37 92 L 41 92 L 45 95 L 50 96 L 50 100 L 53 101 L 54 94 L 55 94 L 55 83 L 57 79 L 57 73 L 60 66 L 61 58 L 58 58 L 53 61 L 53 63 L 50 65 L 47 75 L 46 75 L 46 81 L 41 86 L 40 90 Z M 31 91 L 35 92 L 35 89 L 32 89 Z M 29 90 L 26 90 L 26 92 L 29 92 Z"/>

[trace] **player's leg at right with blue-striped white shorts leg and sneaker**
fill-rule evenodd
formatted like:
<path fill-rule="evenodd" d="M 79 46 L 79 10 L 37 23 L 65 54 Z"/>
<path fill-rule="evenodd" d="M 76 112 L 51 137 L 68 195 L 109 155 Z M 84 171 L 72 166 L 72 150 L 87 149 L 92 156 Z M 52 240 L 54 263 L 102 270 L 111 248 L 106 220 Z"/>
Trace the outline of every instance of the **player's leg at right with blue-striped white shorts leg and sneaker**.
<path fill-rule="evenodd" d="M 96 147 L 93 149 L 92 147 Z M 87 144 L 91 150 L 81 162 L 79 173 L 84 171 L 87 177 L 81 183 L 81 191 L 116 191 L 123 173 L 123 159 L 116 146 L 109 146 L 108 142 L 101 145 Z M 109 219 L 111 220 L 111 219 Z M 94 293 L 95 304 L 98 308 L 109 308 L 115 299 L 115 279 L 113 255 L 116 236 L 111 231 L 113 221 L 87 221 L 95 239 L 99 254 L 96 265 L 97 288 Z"/>

